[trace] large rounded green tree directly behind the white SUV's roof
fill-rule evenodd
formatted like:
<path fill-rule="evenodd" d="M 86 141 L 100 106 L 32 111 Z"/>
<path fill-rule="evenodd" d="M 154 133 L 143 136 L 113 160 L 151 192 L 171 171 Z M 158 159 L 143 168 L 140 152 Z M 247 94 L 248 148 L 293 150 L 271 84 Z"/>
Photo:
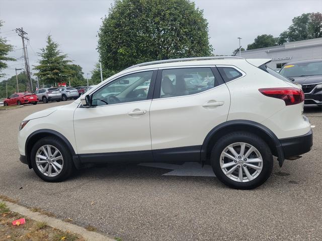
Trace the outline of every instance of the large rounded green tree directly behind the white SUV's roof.
<path fill-rule="evenodd" d="M 116 0 L 98 32 L 104 69 L 209 56 L 208 23 L 189 0 Z"/>

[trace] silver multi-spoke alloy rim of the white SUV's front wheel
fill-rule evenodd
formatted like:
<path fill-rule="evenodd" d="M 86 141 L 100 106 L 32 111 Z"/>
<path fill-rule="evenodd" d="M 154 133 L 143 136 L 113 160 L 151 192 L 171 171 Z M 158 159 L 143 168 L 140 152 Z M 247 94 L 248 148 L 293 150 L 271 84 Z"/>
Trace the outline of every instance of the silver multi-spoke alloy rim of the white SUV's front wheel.
<path fill-rule="evenodd" d="M 44 145 L 36 153 L 36 165 L 45 176 L 55 177 L 62 171 L 64 159 L 57 148 Z"/>

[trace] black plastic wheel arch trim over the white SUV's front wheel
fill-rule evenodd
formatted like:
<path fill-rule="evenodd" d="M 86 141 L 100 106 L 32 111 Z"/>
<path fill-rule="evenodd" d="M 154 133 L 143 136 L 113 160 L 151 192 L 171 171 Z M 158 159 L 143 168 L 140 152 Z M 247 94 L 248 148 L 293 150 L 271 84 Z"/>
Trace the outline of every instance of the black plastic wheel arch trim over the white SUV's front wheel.
<path fill-rule="evenodd" d="M 51 130 L 51 129 L 40 129 L 40 130 L 37 130 L 37 131 L 31 133 L 28 136 L 27 140 L 26 140 L 26 144 L 25 144 L 25 155 L 26 155 L 27 163 L 28 163 L 28 166 L 29 166 L 30 169 L 32 168 L 31 167 L 31 162 L 30 162 L 30 151 L 31 151 L 31 148 L 28 148 L 28 144 L 33 139 L 33 137 L 38 136 L 38 135 L 44 135 L 44 136 L 46 136 L 46 134 L 52 135 L 52 136 L 56 136 L 56 137 L 60 138 L 66 144 L 68 150 L 70 151 L 70 154 L 72 156 L 72 160 L 73 160 L 73 163 L 74 163 L 75 167 L 76 168 L 80 168 L 81 167 L 81 162 L 79 161 L 78 154 L 75 153 L 74 148 L 72 147 L 72 145 L 70 144 L 70 142 L 67 140 L 67 138 L 65 138 L 63 135 L 61 135 L 57 131 L 54 131 L 54 130 Z M 30 149 L 30 150 L 28 150 L 28 149 Z"/>

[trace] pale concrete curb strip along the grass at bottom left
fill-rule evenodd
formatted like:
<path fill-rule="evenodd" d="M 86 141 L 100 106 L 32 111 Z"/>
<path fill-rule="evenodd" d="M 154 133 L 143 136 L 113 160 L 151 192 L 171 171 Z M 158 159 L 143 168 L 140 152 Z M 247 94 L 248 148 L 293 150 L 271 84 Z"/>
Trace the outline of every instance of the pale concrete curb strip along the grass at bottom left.
<path fill-rule="evenodd" d="M 17 212 L 21 215 L 24 215 L 30 219 L 33 219 L 35 221 L 42 221 L 46 222 L 49 226 L 53 228 L 60 229 L 62 231 L 71 231 L 73 233 L 82 235 L 85 239 L 91 240 L 91 241 L 115 241 L 115 239 L 107 237 L 103 234 L 100 234 L 98 232 L 93 232 L 85 229 L 84 227 L 77 226 L 72 223 L 64 222 L 58 218 L 49 217 L 47 215 L 41 214 L 39 212 L 33 212 L 30 209 L 23 207 L 21 205 L 8 202 L 5 200 L 0 199 L 0 201 L 6 203 L 6 205 L 14 212 Z"/>

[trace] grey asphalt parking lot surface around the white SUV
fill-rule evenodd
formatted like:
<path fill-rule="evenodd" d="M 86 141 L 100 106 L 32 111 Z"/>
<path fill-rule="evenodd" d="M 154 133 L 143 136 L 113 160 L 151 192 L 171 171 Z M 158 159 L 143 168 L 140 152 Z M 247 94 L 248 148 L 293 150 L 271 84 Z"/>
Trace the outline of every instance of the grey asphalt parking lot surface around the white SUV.
<path fill-rule="evenodd" d="M 30 113 L 70 102 L 0 111 L 0 195 L 122 240 L 321 240 L 322 112 L 305 111 L 315 126 L 311 152 L 282 168 L 275 161 L 272 176 L 254 190 L 125 164 L 46 183 L 19 161 L 18 127 Z"/>

